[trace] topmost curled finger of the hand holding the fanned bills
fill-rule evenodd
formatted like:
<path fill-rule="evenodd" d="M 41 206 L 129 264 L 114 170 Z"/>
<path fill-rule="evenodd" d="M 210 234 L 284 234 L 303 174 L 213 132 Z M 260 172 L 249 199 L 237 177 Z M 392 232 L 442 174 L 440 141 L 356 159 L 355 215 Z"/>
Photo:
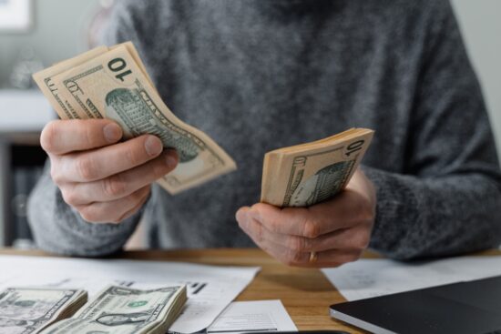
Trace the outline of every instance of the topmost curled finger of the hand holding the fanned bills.
<path fill-rule="evenodd" d="M 40 144 L 47 153 L 62 155 L 117 143 L 122 129 L 109 119 L 52 121 L 44 127 Z"/>

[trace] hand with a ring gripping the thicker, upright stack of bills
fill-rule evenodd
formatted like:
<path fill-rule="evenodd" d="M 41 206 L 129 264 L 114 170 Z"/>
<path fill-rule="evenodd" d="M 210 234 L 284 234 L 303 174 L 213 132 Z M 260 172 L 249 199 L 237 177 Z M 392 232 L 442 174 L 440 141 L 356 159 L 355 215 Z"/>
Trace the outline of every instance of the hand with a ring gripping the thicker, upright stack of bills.
<path fill-rule="evenodd" d="M 358 169 L 338 196 L 312 207 L 241 207 L 237 220 L 254 242 L 291 266 L 338 267 L 360 258 L 371 239 L 376 195 Z M 316 252 L 314 261 L 311 253 Z"/>

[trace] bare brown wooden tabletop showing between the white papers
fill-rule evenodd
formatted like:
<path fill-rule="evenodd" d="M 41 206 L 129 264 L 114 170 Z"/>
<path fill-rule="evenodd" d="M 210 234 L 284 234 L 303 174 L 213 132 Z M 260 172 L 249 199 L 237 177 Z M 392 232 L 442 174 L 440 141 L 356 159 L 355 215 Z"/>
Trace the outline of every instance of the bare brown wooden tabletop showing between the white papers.
<path fill-rule="evenodd" d="M 49 256 L 41 251 L 1 249 L 3 255 Z M 500 255 L 491 250 L 480 255 Z M 367 253 L 364 258 L 374 258 Z M 331 319 L 329 305 L 346 299 L 332 287 L 319 269 L 291 268 L 277 262 L 256 248 L 219 248 L 189 250 L 128 251 L 115 258 L 165 260 L 203 263 L 219 266 L 260 266 L 261 272 L 236 300 L 281 299 L 291 319 L 300 330 L 340 329 L 365 333 L 361 329 Z"/>

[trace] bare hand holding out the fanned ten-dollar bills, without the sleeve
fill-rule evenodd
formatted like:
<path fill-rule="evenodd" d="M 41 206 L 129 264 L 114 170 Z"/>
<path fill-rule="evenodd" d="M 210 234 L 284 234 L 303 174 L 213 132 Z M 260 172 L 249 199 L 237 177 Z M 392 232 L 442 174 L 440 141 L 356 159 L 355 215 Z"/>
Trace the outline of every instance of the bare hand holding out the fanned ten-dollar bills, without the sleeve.
<path fill-rule="evenodd" d="M 51 176 L 67 204 L 93 223 L 118 223 L 148 199 L 150 185 L 178 163 L 160 139 L 118 143 L 122 129 L 107 119 L 57 120 L 42 132 Z"/>

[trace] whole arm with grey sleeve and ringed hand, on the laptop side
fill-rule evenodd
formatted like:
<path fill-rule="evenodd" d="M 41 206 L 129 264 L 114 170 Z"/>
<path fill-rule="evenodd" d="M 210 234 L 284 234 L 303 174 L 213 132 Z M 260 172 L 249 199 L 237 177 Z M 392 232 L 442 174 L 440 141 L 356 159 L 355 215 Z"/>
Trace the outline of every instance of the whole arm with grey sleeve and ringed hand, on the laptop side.
<path fill-rule="evenodd" d="M 339 196 L 312 207 L 240 208 L 240 227 L 273 257 L 335 267 L 368 246 L 411 259 L 501 242 L 501 172 L 486 107 L 450 5 L 436 4 L 403 173 L 363 167 Z"/>

